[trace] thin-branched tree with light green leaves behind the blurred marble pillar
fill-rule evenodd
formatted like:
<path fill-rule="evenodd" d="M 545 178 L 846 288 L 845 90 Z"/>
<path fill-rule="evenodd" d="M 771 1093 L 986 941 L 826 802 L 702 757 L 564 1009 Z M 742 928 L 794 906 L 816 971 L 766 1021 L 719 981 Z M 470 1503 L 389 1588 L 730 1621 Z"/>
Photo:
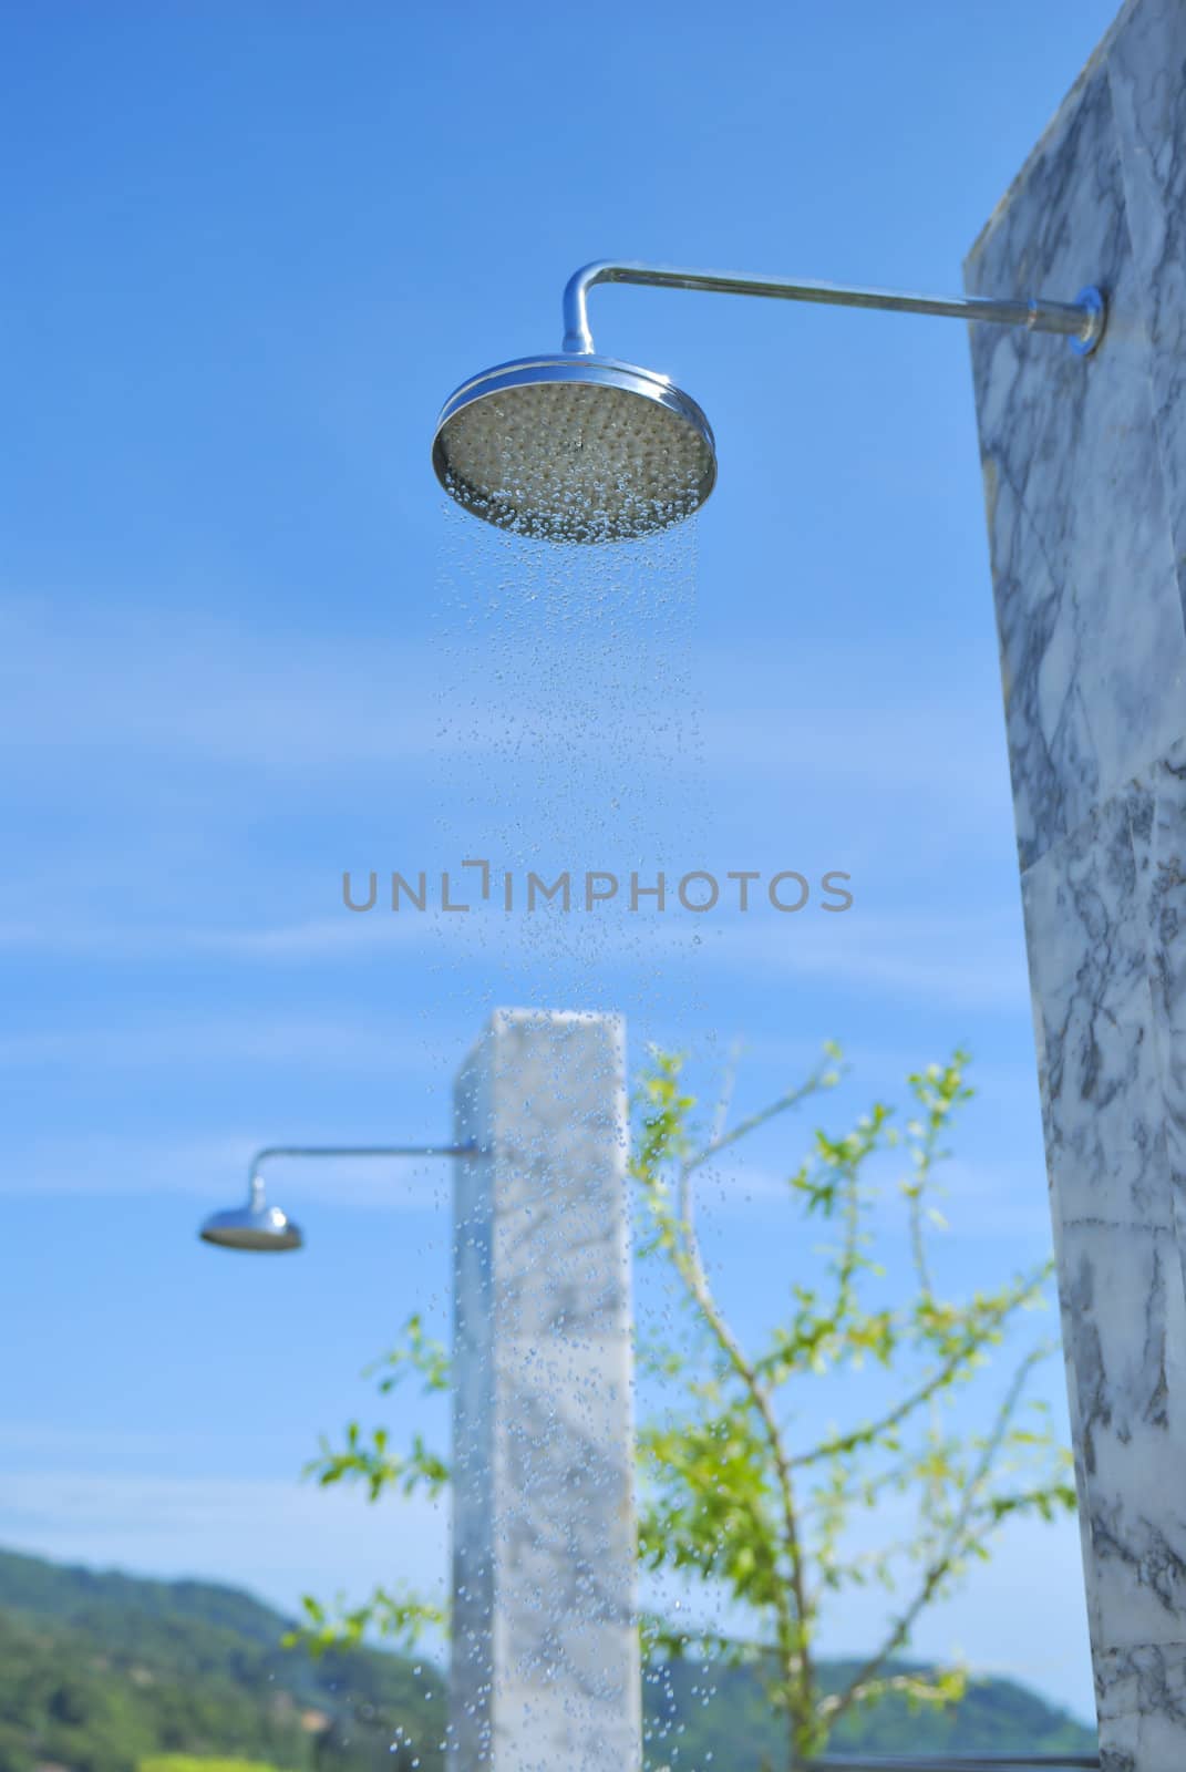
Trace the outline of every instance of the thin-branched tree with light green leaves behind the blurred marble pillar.
<path fill-rule="evenodd" d="M 814 1132 L 805 1161 L 787 1177 L 789 1200 L 803 1217 L 830 1221 L 837 1242 L 823 1251 L 815 1283 L 791 1288 L 787 1320 L 759 1347 L 743 1345 L 709 1279 L 697 1232 L 697 1180 L 759 1127 L 835 1086 L 844 1069 L 839 1047 L 824 1047 L 805 1083 L 734 1125 L 730 1088 L 713 1123 L 698 1123 L 681 1054 L 652 1051 L 635 1092 L 636 1255 L 663 1263 L 679 1302 L 679 1313 L 658 1336 L 638 1336 L 640 1375 L 661 1377 L 667 1400 L 638 1430 L 638 1556 L 649 1570 L 704 1582 L 753 1621 L 745 1634 L 723 1634 L 645 1618 L 644 1650 L 663 1659 L 695 1648 L 761 1671 L 785 1724 L 789 1768 L 821 1753 L 847 1712 L 886 1694 L 906 1698 L 911 1708 L 957 1701 L 964 1667 L 893 1667 L 918 1616 L 954 1589 L 970 1559 L 987 1561 L 993 1535 L 1005 1520 L 1049 1520 L 1076 1506 L 1071 1451 L 1057 1444 L 1046 1405 L 1028 1400 L 1039 1419 L 1019 1423 L 1026 1384 L 1057 1350 L 1057 1338 L 1037 1341 L 1019 1357 L 987 1432 L 957 1434 L 945 1419 L 957 1389 L 1005 1340 L 1010 1320 L 1046 1304 L 1053 1271 L 1053 1260 L 1046 1260 L 964 1301 L 936 1290 L 927 1235 L 929 1226 L 945 1221 L 929 1196 L 934 1171 L 948 1155 L 952 1116 L 971 1095 L 966 1063 L 966 1053 L 956 1051 L 948 1063 L 909 1076 L 913 1115 L 901 1131 L 892 1109 L 876 1102 L 840 1136 Z M 869 1170 L 886 1152 L 906 1159 L 897 1185 L 911 1251 L 911 1297 L 906 1304 L 869 1306 L 869 1279 L 885 1278 L 885 1267 L 869 1253 L 869 1209 L 876 1200 Z M 865 1361 L 892 1373 L 892 1400 L 872 1419 L 798 1444 L 787 1393 Z M 397 1347 L 369 1368 L 369 1375 L 376 1373 L 381 1393 L 410 1377 L 425 1393 L 445 1391 L 449 1354 L 413 1315 Z M 395 1449 L 385 1428 L 367 1435 L 356 1421 L 342 1444 L 321 1439 L 307 1474 L 321 1485 L 363 1483 L 372 1501 L 386 1490 L 440 1496 L 449 1483 L 447 1462 L 420 1437 Z M 876 1552 L 846 1556 L 842 1542 L 853 1517 L 890 1496 L 913 1497 L 917 1533 Z M 904 1604 L 840 1690 L 824 1692 L 814 1644 L 826 1602 L 870 1579 L 902 1591 Z M 305 1625 L 294 1637 L 314 1650 L 358 1641 L 371 1627 L 410 1644 L 427 1623 L 447 1623 L 440 1607 L 404 1591 L 376 1589 L 360 1605 L 337 1611 L 312 1597 L 303 1604 Z"/>

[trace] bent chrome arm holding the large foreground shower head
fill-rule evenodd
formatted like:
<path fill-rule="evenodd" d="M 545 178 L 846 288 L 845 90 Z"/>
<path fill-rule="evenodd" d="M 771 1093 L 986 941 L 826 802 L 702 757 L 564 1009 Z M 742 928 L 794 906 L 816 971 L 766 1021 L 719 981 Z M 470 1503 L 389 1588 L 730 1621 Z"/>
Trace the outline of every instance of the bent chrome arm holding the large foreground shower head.
<path fill-rule="evenodd" d="M 1080 356 L 1099 344 L 1106 305 L 1094 287 L 1069 301 L 996 301 L 989 296 L 915 296 L 892 289 L 851 289 L 844 284 L 798 284 L 787 276 L 737 276 L 729 271 L 683 271 L 674 266 L 597 259 L 581 266 L 564 291 L 564 349 L 594 353 L 587 301 L 596 284 L 645 284 L 652 289 L 704 289 L 722 296 L 771 296 L 776 301 L 819 301 L 840 308 L 885 308 L 892 314 L 943 314 L 961 321 L 1025 326 L 1062 333 Z"/>

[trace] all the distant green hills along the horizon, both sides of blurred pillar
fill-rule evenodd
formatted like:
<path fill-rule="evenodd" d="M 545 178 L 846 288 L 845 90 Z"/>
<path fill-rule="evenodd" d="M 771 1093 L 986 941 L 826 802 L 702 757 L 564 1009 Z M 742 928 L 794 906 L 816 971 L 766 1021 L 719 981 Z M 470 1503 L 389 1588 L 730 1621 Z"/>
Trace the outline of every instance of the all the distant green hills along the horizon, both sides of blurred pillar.
<path fill-rule="evenodd" d="M 280 1772 L 410 1772 L 415 1761 L 443 1772 L 440 1669 L 371 1648 L 312 1660 L 280 1646 L 287 1628 L 238 1588 L 0 1550 L 0 1772 L 137 1772 L 158 1754 Z M 823 1662 L 824 1685 L 839 1689 L 854 1667 Z M 761 1772 L 785 1758 L 752 1669 L 652 1666 L 644 1715 L 649 1767 Z M 840 1749 L 1087 1754 L 1096 1731 L 991 1678 L 945 1715 L 888 1699 L 846 1717 L 831 1742 Z"/>

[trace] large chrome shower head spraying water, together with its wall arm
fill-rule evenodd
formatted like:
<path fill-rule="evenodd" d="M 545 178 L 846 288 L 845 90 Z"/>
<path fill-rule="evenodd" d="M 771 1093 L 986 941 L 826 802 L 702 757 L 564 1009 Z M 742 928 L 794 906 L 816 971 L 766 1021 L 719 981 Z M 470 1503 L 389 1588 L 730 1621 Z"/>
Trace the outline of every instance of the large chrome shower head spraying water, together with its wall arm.
<path fill-rule="evenodd" d="M 915 296 L 599 259 L 564 291 L 562 356 L 488 369 L 463 383 L 436 420 L 436 478 L 498 528 L 560 542 L 633 540 L 690 517 L 716 484 L 716 445 L 697 402 L 652 369 L 594 353 L 587 301 L 596 284 L 945 314 L 1060 333 L 1080 356 L 1096 351 L 1108 321 L 1094 285 L 1074 301 Z"/>

